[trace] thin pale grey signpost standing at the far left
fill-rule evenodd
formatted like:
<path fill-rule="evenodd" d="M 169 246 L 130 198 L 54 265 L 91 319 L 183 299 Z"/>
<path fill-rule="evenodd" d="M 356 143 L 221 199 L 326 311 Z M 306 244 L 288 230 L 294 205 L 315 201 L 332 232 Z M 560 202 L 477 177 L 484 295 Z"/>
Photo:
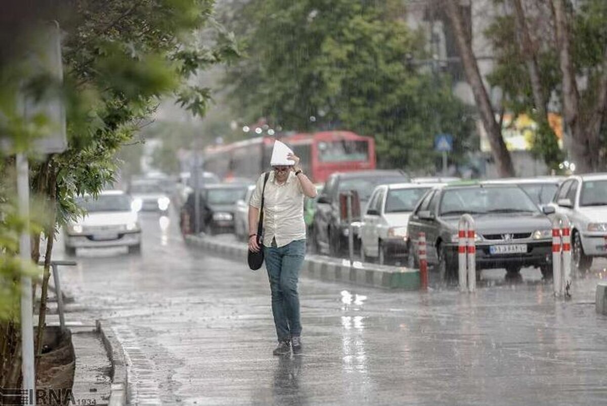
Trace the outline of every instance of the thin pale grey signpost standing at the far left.
<path fill-rule="evenodd" d="M 19 236 L 19 256 L 24 264 L 32 261 L 32 246 L 29 233 L 30 186 L 29 165 L 24 154 L 17 154 L 17 195 L 19 199 L 19 216 L 25 222 L 25 230 Z M 32 279 L 21 278 L 21 373 L 23 389 L 35 393 L 34 370 L 34 327 L 32 304 Z"/>

